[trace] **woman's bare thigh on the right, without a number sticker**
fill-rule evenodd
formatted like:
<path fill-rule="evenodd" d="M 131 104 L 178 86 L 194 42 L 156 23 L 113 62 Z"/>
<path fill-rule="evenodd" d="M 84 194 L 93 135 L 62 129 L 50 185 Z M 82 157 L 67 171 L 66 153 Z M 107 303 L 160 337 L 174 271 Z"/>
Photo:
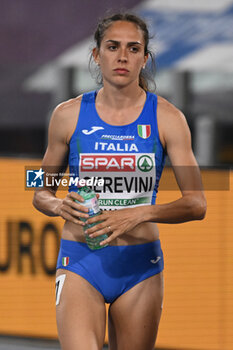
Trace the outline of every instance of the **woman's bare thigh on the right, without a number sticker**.
<path fill-rule="evenodd" d="M 163 273 L 122 294 L 109 308 L 110 350 L 152 350 L 163 302 Z"/>

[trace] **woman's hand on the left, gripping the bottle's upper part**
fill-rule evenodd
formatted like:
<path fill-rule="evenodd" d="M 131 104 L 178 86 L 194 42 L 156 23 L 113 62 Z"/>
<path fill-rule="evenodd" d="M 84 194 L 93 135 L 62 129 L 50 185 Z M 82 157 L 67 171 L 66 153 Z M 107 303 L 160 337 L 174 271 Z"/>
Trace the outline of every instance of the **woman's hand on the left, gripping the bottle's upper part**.
<path fill-rule="evenodd" d="M 76 192 L 69 192 L 67 196 L 62 199 L 60 204 L 57 207 L 57 214 L 61 216 L 64 220 L 68 220 L 73 222 L 74 224 L 78 224 L 84 226 L 85 223 L 80 220 L 80 218 L 88 219 L 89 215 L 88 208 L 85 206 L 75 202 L 75 200 L 79 202 L 84 202 L 82 196 L 80 196 Z"/>

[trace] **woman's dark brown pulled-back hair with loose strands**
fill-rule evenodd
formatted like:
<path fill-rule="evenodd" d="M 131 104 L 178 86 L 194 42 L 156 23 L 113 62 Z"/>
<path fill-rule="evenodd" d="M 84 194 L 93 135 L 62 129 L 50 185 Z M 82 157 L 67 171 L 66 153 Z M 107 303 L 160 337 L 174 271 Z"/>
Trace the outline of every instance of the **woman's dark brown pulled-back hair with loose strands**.
<path fill-rule="evenodd" d="M 154 54 L 148 49 L 148 44 L 149 44 L 149 31 L 147 28 L 146 23 L 138 16 L 132 14 L 132 13 L 127 13 L 127 12 L 122 12 L 122 13 L 115 13 L 113 15 L 107 16 L 103 18 L 102 20 L 99 21 L 97 25 L 97 29 L 94 34 L 94 40 L 96 43 L 96 47 L 99 49 L 101 45 L 101 41 L 104 37 L 104 34 L 106 30 L 113 24 L 113 22 L 116 21 L 126 21 L 126 22 L 131 22 L 137 25 L 143 34 L 144 38 L 144 44 L 145 44 L 145 50 L 144 53 L 145 55 L 149 54 L 151 60 L 150 64 L 147 64 L 145 69 L 142 69 L 139 75 L 139 86 L 141 86 L 142 89 L 145 91 L 148 90 L 155 90 L 155 82 L 154 82 L 154 75 L 155 75 L 155 59 L 154 59 Z M 91 56 L 92 59 L 92 56 Z M 91 59 L 89 62 L 89 67 L 91 63 Z M 103 78 L 101 75 L 101 72 L 99 68 L 97 67 L 97 76 L 96 81 L 98 84 L 103 83 Z M 152 85 L 152 86 L 151 86 Z"/>

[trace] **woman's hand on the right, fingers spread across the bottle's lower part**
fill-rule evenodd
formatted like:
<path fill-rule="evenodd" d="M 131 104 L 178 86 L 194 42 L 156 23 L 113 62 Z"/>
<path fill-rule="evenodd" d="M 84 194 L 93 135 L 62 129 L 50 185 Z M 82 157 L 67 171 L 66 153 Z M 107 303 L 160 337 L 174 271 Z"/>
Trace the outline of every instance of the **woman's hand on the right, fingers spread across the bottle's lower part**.
<path fill-rule="evenodd" d="M 108 234 L 109 237 L 100 243 L 100 245 L 105 245 L 143 222 L 141 213 L 140 207 L 103 211 L 102 214 L 86 221 L 85 224 L 93 224 L 98 221 L 101 223 L 86 230 L 85 234 L 88 234 L 90 238 Z"/>

